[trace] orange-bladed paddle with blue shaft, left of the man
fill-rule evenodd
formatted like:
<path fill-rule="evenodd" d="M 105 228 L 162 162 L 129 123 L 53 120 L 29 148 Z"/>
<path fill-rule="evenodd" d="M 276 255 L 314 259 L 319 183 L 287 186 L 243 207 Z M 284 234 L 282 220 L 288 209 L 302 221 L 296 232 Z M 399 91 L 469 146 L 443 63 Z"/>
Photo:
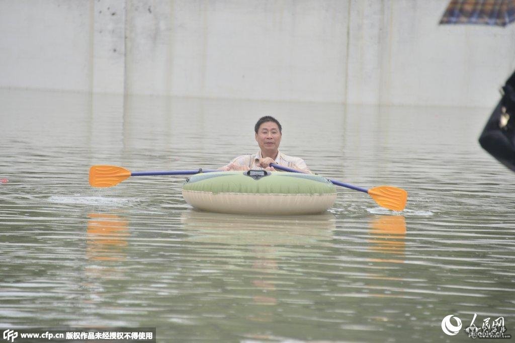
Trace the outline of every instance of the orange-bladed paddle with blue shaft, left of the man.
<path fill-rule="evenodd" d="M 150 175 L 193 175 L 198 173 L 209 173 L 217 170 L 164 170 L 164 171 L 129 171 L 114 165 L 94 165 L 90 168 L 90 185 L 93 187 L 115 186 L 130 176 Z"/>

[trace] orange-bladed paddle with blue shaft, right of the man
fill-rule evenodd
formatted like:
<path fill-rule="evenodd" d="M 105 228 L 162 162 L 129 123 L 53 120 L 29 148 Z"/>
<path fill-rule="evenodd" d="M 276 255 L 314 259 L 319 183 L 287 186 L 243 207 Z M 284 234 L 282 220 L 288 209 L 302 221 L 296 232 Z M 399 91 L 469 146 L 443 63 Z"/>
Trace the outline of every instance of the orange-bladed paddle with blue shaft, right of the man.
<path fill-rule="evenodd" d="M 290 171 L 290 173 L 302 173 L 302 171 L 284 167 L 284 166 L 276 164 L 276 163 L 270 163 L 270 166 L 274 167 L 275 169 Z M 393 187 L 393 186 L 377 186 L 377 187 L 373 187 L 373 188 L 370 188 L 369 190 L 367 190 L 366 188 L 353 186 L 353 185 L 345 183 L 345 182 L 340 182 L 340 181 L 331 180 L 331 179 L 328 179 L 328 180 L 331 181 L 335 185 L 347 187 L 354 191 L 367 193 L 381 207 L 387 208 L 389 210 L 402 211 L 406 207 L 406 201 L 408 199 L 408 192 L 404 191 L 401 188 L 397 188 L 397 187 Z"/>

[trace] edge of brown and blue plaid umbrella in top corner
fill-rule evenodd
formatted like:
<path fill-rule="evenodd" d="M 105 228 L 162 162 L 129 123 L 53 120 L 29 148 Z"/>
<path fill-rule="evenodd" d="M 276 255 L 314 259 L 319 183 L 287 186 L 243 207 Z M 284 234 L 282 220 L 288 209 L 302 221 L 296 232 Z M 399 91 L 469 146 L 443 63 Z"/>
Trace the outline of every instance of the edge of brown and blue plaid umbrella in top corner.
<path fill-rule="evenodd" d="M 515 21 L 515 0 L 451 0 L 440 24 L 506 26 Z"/>

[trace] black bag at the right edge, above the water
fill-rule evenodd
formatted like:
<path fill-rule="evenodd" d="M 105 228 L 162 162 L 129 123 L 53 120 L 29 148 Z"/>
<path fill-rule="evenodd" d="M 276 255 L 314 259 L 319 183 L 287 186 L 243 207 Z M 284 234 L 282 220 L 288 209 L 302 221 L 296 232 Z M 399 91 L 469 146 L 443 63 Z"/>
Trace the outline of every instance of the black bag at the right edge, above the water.
<path fill-rule="evenodd" d="M 479 136 L 479 144 L 515 171 L 515 72 L 506 81 L 502 93 L 501 101 Z"/>

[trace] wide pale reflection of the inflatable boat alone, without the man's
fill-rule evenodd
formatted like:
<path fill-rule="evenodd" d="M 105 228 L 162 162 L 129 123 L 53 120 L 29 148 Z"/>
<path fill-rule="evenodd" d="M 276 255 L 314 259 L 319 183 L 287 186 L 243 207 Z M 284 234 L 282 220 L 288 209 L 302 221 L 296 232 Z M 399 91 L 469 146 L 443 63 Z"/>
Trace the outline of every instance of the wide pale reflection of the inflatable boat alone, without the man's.
<path fill-rule="evenodd" d="M 336 228 L 329 212 L 290 217 L 184 211 L 181 221 L 188 241 L 230 245 L 325 245 Z"/>

